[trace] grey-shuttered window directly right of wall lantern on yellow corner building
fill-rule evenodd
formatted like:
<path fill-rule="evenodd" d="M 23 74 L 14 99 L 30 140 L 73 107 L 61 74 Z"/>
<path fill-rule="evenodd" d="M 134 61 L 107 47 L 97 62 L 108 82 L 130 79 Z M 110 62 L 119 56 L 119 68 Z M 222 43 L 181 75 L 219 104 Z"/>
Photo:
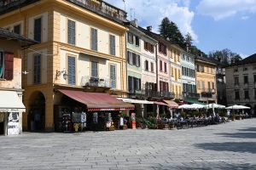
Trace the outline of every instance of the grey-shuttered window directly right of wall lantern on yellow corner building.
<path fill-rule="evenodd" d="M 67 82 L 68 84 L 76 84 L 76 58 L 68 56 L 67 57 Z"/>

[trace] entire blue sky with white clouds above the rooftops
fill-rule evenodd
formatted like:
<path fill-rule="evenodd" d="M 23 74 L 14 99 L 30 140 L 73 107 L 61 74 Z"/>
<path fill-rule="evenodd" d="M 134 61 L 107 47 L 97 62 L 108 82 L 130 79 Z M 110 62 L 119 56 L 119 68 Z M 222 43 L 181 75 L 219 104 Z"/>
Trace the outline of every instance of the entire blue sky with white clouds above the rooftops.
<path fill-rule="evenodd" d="M 168 17 L 183 35 L 190 32 L 194 44 L 206 54 L 230 48 L 246 57 L 256 53 L 256 0 L 106 0 L 126 10 L 128 19 L 153 26 Z"/>

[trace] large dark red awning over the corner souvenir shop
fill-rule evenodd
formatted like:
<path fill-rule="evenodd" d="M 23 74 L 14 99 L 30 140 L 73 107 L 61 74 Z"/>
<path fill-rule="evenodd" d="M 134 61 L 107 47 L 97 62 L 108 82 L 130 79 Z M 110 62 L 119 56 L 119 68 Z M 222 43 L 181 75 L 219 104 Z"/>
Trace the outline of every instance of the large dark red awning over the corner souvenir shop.
<path fill-rule="evenodd" d="M 134 105 L 116 99 L 109 94 L 88 93 L 74 90 L 59 90 L 71 99 L 87 106 L 88 111 L 125 111 L 134 110 Z"/>

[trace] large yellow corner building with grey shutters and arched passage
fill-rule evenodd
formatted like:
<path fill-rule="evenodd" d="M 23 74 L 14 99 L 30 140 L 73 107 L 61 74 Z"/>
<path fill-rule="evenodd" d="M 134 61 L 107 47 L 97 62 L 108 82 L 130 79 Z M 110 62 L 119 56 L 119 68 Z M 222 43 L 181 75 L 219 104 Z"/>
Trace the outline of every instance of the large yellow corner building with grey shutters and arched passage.
<path fill-rule="evenodd" d="M 55 105 L 63 100 L 58 89 L 126 96 L 124 11 L 96 0 L 44 0 L 22 6 L 2 14 L 0 27 L 12 31 L 19 25 L 21 35 L 40 42 L 23 52 L 23 71 L 29 72 L 22 78 L 23 129 L 55 130 Z M 83 88 L 93 77 L 100 81 L 96 88 Z"/>

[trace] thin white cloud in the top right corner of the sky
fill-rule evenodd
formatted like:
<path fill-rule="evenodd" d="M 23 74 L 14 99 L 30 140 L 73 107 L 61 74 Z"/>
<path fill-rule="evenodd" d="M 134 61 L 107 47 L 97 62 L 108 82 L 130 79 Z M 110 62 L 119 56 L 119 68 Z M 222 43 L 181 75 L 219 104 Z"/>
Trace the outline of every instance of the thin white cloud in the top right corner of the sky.
<path fill-rule="evenodd" d="M 201 0 L 196 9 L 199 14 L 222 20 L 240 13 L 256 13 L 256 0 Z"/>

